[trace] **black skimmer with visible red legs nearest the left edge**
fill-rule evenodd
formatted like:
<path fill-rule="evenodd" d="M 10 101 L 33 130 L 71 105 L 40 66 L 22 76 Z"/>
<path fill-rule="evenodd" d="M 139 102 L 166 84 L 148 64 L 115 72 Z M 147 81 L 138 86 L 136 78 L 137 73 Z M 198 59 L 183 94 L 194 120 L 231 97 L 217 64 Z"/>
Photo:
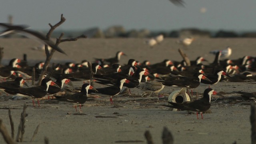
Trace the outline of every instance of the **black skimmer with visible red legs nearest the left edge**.
<path fill-rule="evenodd" d="M 40 106 L 38 98 L 42 98 L 46 96 L 50 85 L 58 86 L 54 82 L 52 82 L 52 80 L 48 78 L 44 78 L 40 86 L 34 86 L 30 88 L 15 88 L 15 89 L 8 89 L 5 91 L 8 92 L 9 94 L 24 94 L 26 96 L 32 96 L 33 106 L 35 106 L 34 98 L 37 98 L 38 106 Z"/>

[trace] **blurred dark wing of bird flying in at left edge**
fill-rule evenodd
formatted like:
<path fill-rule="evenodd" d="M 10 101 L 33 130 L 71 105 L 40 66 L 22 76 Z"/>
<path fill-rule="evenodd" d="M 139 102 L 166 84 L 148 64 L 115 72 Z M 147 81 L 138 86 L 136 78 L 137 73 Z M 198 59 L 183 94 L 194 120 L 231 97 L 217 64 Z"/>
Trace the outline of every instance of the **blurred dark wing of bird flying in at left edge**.
<path fill-rule="evenodd" d="M 24 26 L 17 26 L 17 25 L 14 26 L 14 25 L 6 24 L 6 23 L 0 23 L 0 26 L 3 26 L 5 28 L 7 28 L 7 30 L 5 32 L 21 31 L 21 32 L 25 32 L 27 34 L 31 34 L 31 35 L 35 36 L 36 38 L 40 39 L 42 42 L 44 42 L 44 44 L 52 47 L 53 49 L 57 50 L 58 52 L 66 54 L 61 48 L 56 46 L 54 44 L 54 42 L 52 42 L 51 40 L 46 40 L 46 36 L 44 36 L 43 34 L 40 34 L 39 32 L 36 32 L 36 31 L 33 31 L 33 30 L 28 30 L 28 29 L 24 28 Z"/>

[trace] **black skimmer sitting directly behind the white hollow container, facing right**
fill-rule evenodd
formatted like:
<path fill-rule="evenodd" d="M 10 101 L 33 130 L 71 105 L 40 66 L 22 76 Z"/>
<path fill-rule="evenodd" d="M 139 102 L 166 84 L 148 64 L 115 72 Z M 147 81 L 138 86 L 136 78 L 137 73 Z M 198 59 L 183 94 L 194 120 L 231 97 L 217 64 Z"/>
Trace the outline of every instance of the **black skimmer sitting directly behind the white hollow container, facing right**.
<path fill-rule="evenodd" d="M 157 80 L 162 82 L 165 86 L 174 86 L 174 87 L 185 87 L 185 88 L 197 88 L 200 85 L 201 80 L 208 80 L 206 76 L 202 73 L 197 72 L 192 77 L 183 77 L 182 79 L 172 80 L 172 81 L 163 81 Z"/>

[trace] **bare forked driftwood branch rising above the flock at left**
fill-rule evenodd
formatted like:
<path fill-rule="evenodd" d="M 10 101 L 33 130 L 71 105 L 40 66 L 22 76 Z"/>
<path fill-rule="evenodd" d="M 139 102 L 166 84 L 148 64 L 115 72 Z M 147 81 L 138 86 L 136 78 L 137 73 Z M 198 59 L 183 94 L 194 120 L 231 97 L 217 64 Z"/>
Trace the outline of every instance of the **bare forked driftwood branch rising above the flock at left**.
<path fill-rule="evenodd" d="M 49 26 L 51 27 L 49 32 L 46 34 L 46 39 L 47 40 L 50 40 L 50 36 L 52 35 L 52 32 L 58 27 L 60 26 L 61 24 L 63 24 L 64 22 L 66 21 L 66 18 L 63 17 L 63 14 L 61 14 L 61 18 L 60 18 L 60 22 L 58 22 L 57 24 L 55 24 L 54 26 L 52 26 L 52 24 L 49 24 Z M 60 37 L 56 39 L 56 46 L 58 46 L 61 42 L 70 42 L 70 41 L 76 41 L 78 40 L 79 38 L 87 38 L 87 36 L 85 35 L 81 35 L 81 36 L 78 36 L 76 38 L 67 38 L 67 39 L 63 39 L 62 40 L 62 37 L 64 36 L 64 33 L 60 34 Z M 38 79 L 38 83 L 37 85 L 40 85 L 41 82 L 42 82 L 42 79 L 44 77 L 44 75 L 46 74 L 47 72 L 47 68 L 50 64 L 50 60 L 52 59 L 52 56 L 54 54 L 55 50 L 52 49 L 51 52 L 49 52 L 49 49 L 48 49 L 48 46 L 45 45 L 45 53 L 46 53 L 46 60 L 44 62 L 44 67 L 43 67 L 43 70 L 41 72 L 41 75 Z"/>

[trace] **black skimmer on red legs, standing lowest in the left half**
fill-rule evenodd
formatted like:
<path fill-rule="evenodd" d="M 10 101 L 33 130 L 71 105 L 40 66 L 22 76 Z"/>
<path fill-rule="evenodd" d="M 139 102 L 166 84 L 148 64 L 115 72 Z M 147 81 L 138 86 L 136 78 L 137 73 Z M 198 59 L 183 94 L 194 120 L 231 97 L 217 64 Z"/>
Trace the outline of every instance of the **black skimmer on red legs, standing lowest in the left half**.
<path fill-rule="evenodd" d="M 55 97 L 56 97 L 56 100 L 79 104 L 80 112 L 82 112 L 81 104 L 84 104 L 86 102 L 87 96 L 88 96 L 88 90 L 96 90 L 96 89 L 93 88 L 90 84 L 83 84 L 82 89 L 79 93 L 73 94 L 71 96 L 55 96 Z M 76 108 L 76 105 L 75 105 L 75 108 Z"/>

